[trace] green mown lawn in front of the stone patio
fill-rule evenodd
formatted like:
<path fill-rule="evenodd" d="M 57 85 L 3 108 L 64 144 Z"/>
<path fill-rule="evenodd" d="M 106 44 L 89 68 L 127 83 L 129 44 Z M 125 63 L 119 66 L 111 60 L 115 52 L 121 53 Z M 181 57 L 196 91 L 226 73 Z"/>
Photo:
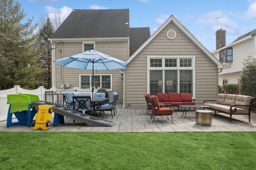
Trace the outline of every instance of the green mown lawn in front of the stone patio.
<path fill-rule="evenodd" d="M 0 169 L 253 169 L 255 141 L 256 132 L 0 132 Z"/>

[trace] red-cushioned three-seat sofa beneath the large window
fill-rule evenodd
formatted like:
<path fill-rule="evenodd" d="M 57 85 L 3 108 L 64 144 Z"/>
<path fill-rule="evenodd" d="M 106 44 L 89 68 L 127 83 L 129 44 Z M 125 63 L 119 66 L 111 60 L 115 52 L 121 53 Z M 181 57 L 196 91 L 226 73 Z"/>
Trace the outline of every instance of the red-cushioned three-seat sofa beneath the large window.
<path fill-rule="evenodd" d="M 156 93 L 159 103 L 165 105 L 195 105 L 190 93 Z"/>

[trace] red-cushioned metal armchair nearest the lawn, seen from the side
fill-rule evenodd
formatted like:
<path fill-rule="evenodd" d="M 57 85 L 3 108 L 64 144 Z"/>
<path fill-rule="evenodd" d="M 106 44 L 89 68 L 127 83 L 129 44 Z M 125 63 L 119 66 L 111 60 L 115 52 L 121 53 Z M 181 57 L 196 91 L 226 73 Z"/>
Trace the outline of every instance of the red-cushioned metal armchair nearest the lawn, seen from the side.
<path fill-rule="evenodd" d="M 168 115 L 172 116 L 172 114 L 174 113 L 173 109 L 170 108 L 171 105 L 160 105 L 158 98 L 155 95 L 152 95 L 149 98 L 152 104 L 152 123 L 155 121 L 155 116 L 167 116 L 167 119 L 169 120 Z"/>

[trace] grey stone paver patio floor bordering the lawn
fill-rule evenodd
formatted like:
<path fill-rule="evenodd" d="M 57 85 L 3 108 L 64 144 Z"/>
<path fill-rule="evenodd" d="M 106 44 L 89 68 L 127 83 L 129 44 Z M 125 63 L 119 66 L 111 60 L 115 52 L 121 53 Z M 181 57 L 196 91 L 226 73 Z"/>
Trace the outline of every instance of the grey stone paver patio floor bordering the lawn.
<path fill-rule="evenodd" d="M 225 114 L 218 113 L 217 117 L 212 117 L 211 126 L 201 126 L 196 124 L 195 111 L 188 111 L 186 118 L 182 117 L 183 111 L 174 109 L 172 114 L 173 123 L 167 116 L 156 116 L 152 123 L 150 115 L 144 109 L 122 109 L 122 103 L 116 105 L 116 116 L 102 114 L 98 116 L 108 121 L 113 121 L 113 127 L 87 127 L 84 123 L 68 118 L 65 123 L 58 127 L 52 125 L 45 132 L 256 132 L 256 114 L 252 113 L 251 121 L 248 122 L 247 115 L 233 115 L 232 122 Z M 213 113 L 214 114 L 214 113 Z M 52 114 L 52 122 L 54 114 Z M 32 132 L 33 128 L 26 125 L 6 127 L 6 121 L 0 122 L 1 132 Z"/>

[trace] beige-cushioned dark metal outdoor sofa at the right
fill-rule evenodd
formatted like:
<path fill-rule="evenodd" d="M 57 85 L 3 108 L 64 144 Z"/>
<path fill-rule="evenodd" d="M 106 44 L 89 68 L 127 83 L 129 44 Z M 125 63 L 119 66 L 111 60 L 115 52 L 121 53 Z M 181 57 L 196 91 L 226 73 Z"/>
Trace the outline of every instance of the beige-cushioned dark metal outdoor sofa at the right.
<path fill-rule="evenodd" d="M 214 111 L 214 116 L 216 113 L 226 113 L 230 115 L 230 122 L 232 115 L 248 115 L 249 122 L 251 116 L 252 103 L 255 97 L 246 95 L 233 95 L 233 94 L 222 94 L 217 95 L 217 100 L 206 100 L 204 105 L 209 106 L 207 109 Z M 213 103 L 214 102 L 214 103 Z"/>

